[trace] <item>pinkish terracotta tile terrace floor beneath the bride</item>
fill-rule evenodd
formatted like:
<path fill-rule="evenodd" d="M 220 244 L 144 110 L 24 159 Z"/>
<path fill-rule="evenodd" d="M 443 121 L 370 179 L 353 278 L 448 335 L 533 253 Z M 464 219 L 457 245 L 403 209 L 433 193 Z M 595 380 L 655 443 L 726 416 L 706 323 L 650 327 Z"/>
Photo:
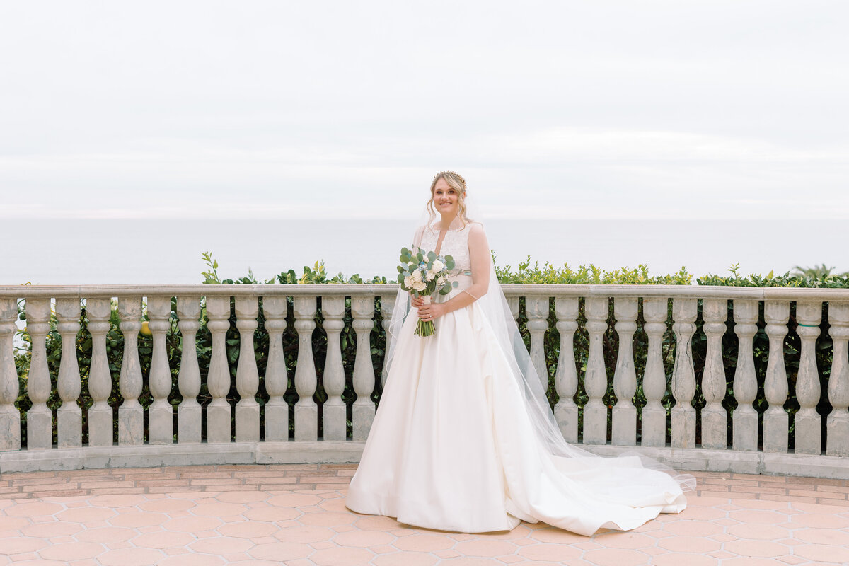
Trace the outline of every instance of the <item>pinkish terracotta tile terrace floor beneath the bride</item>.
<path fill-rule="evenodd" d="M 0 565 L 849 564 L 845 480 L 695 474 L 680 515 L 627 533 L 464 535 L 345 507 L 355 464 L 0 475 Z"/>

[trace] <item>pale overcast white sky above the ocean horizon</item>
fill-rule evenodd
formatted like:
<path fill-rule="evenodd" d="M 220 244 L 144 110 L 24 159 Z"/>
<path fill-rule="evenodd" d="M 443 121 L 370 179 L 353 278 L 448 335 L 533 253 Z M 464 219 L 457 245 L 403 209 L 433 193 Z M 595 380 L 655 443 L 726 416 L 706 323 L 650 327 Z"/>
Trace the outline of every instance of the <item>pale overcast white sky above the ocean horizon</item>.
<path fill-rule="evenodd" d="M 0 217 L 849 217 L 849 3 L 0 3 Z"/>

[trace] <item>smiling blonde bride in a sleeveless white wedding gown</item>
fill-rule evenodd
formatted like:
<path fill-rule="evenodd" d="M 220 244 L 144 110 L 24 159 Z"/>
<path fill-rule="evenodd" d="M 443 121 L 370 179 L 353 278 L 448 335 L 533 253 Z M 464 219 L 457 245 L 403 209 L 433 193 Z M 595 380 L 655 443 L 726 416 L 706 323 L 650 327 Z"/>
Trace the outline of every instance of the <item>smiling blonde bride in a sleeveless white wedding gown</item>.
<path fill-rule="evenodd" d="M 430 305 L 399 291 L 386 384 L 347 507 L 469 533 L 524 520 L 592 535 L 680 513 L 692 476 L 563 440 L 466 198 L 457 173 L 434 177 L 430 221 L 413 244 L 452 255 L 449 280 L 458 286 Z M 409 305 L 417 316 L 407 316 Z M 436 334 L 415 335 L 418 319 L 433 321 Z"/>

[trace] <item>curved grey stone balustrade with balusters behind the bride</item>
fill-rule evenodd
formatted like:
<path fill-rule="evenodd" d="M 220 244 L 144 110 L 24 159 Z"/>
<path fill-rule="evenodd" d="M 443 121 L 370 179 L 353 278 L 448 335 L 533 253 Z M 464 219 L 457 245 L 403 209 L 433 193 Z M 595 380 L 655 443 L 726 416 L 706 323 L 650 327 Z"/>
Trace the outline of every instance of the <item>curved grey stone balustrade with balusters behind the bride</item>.
<path fill-rule="evenodd" d="M 375 371 L 369 334 L 376 331 L 376 323 L 382 322 L 384 328 L 388 325 L 386 313 L 391 312 L 395 289 L 394 285 L 368 284 L 0 287 L 0 472 L 183 463 L 356 462 L 374 419 L 370 395 L 376 386 L 380 389 L 381 376 Z M 559 359 L 552 377 L 559 398 L 554 415 L 566 440 L 602 454 L 641 451 L 690 470 L 849 478 L 844 460 L 849 455 L 849 290 L 661 285 L 505 285 L 504 290 L 514 317 L 526 318 L 531 359 L 543 379 L 549 376 L 545 334 L 549 326 L 559 333 Z M 212 336 L 205 376 L 200 373 L 195 350 L 182 351 L 177 389 L 183 401 L 178 406 L 169 401 L 175 392 L 166 353 L 172 298 L 176 298 L 177 328 L 183 341 L 194 343 L 204 313 Z M 327 334 L 320 384 L 327 401 L 320 410 L 313 400 L 319 382 L 312 351 L 319 298 Z M 233 384 L 225 335 L 230 329 L 231 299 L 240 337 L 234 379 L 238 402 L 228 401 Z M 350 407 L 343 401 L 346 360 L 340 348 L 346 299 L 351 300 L 351 325 L 357 336 L 349 383 L 356 401 Z M 384 316 L 375 318 L 378 299 Z M 31 401 L 25 414 L 23 448 L 21 413 L 14 406 L 21 393 L 13 355 L 20 300 L 25 300 L 31 336 L 29 373 L 20 380 L 25 384 L 22 392 Z M 92 403 L 86 409 L 85 436 L 83 410 L 77 402 L 81 371 L 74 353 L 81 300 L 93 344 L 87 370 L 87 395 Z M 120 373 L 118 389 L 123 400 L 117 408 L 108 402 L 113 372 L 106 352 L 115 300 L 126 338 L 121 367 L 118 371 L 113 368 Z M 520 312 L 521 303 L 524 308 Z M 828 305 L 828 321 L 822 320 L 824 304 Z M 261 352 L 267 356 L 263 376 L 257 370 L 254 340 L 260 305 L 268 335 L 268 350 Z M 729 305 L 733 307 L 731 330 Z M 795 322 L 789 322 L 791 306 Z M 552 308 L 556 322 L 550 325 Z M 53 314 L 63 346 L 55 385 L 46 350 Z M 287 317 L 294 317 L 297 332 L 294 379 L 287 375 L 284 363 Z M 137 339 L 143 318 L 149 320 L 152 333 L 146 380 Z M 667 390 L 663 340 L 670 322 L 675 356 Z M 752 350 L 759 328 L 764 328 L 769 344 L 762 378 L 758 378 Z M 815 349 L 821 328 L 827 328 L 833 341 L 831 367 L 817 365 Z M 612 371 L 612 389 L 619 401 L 609 406 L 604 402 L 611 384 L 603 342 L 611 330 L 620 345 Z M 586 333 L 588 339 L 586 363 L 578 360 L 586 367 L 583 371 L 576 364 L 576 331 Z M 795 377 L 792 389 L 798 404 L 792 415 L 784 408 L 790 399 L 787 367 L 791 362 L 785 355 L 784 339 L 791 331 L 801 341 L 800 350 L 791 354 L 795 359 L 790 377 Z M 692 347 L 697 332 L 704 333 L 707 344 L 699 376 L 694 371 Z M 635 364 L 635 333 L 647 338 L 644 369 Z M 737 406 L 730 414 L 723 405 L 728 395 L 722 356 L 726 333 L 738 345 L 733 378 Z M 828 374 L 827 380 L 820 370 Z M 260 379 L 267 393 L 262 408 L 255 400 Z M 198 401 L 202 380 L 211 397 L 205 405 Z M 152 397 L 147 407 L 139 403 L 145 381 Z M 297 402 L 284 398 L 291 392 L 291 382 Z M 823 383 L 827 383 L 824 388 Z M 588 398 L 580 407 L 575 402 L 579 384 Z M 645 403 L 637 407 L 631 400 L 639 385 Z M 759 389 L 768 404 L 765 412 L 757 412 L 753 406 Z M 694 406 L 697 391 L 704 399 L 698 409 Z M 674 398 L 671 409 L 664 403 L 670 393 Z M 48 406 L 52 394 L 61 399 L 55 410 Z"/>

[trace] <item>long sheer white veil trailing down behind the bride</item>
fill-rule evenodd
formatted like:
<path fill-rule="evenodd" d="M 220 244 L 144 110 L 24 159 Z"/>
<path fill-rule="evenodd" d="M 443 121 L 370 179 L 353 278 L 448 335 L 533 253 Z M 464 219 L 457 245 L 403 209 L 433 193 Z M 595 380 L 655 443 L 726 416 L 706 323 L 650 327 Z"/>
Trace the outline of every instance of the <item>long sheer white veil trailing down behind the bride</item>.
<path fill-rule="evenodd" d="M 475 218 L 475 216 L 471 216 Z M 425 230 L 435 229 L 432 222 L 425 221 L 413 235 L 413 249 L 417 249 Z M 504 357 L 509 361 L 511 373 L 513 374 L 519 390 L 523 397 L 527 415 L 537 435 L 537 440 L 548 451 L 558 457 L 595 457 L 600 456 L 593 452 L 573 446 L 565 441 L 561 434 L 554 412 L 548 405 L 548 397 L 543 389 L 543 383 L 537 375 L 537 371 L 531 361 L 531 356 L 526 349 L 519 327 L 510 311 L 507 298 L 504 296 L 501 284 L 496 276 L 495 266 L 490 258 L 489 286 L 485 295 L 477 300 L 481 310 L 486 315 L 487 321 L 492 326 L 498 338 L 498 344 L 503 350 Z M 386 330 L 386 373 L 391 372 L 391 364 L 396 350 L 396 342 L 401 333 L 401 328 L 406 317 L 411 311 L 410 296 L 406 291 L 398 289 L 395 305 L 392 311 L 391 322 Z M 412 316 L 415 316 L 413 313 Z M 636 451 L 621 454 L 619 457 L 638 457 L 643 468 L 660 470 L 672 476 L 684 491 L 695 489 L 695 479 L 689 474 L 678 474 L 661 462 L 638 454 Z"/>

